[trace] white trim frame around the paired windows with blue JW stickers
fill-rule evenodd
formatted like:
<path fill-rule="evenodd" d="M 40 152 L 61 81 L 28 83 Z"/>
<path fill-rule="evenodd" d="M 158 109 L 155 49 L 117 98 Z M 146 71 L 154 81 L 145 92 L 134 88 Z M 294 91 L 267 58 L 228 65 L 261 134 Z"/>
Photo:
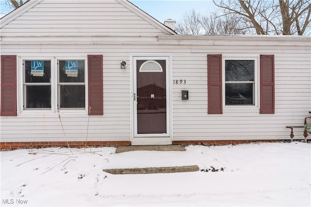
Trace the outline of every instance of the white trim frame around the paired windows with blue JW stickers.
<path fill-rule="evenodd" d="M 51 61 L 51 109 L 23 109 L 24 104 L 24 67 L 23 62 L 27 60 L 47 60 Z M 85 109 L 57 109 L 57 87 L 58 87 L 58 60 L 84 60 L 85 61 Z M 52 55 L 19 55 L 17 57 L 17 114 L 19 113 L 88 113 L 88 68 L 87 55 L 66 55 L 66 56 L 52 56 Z"/>

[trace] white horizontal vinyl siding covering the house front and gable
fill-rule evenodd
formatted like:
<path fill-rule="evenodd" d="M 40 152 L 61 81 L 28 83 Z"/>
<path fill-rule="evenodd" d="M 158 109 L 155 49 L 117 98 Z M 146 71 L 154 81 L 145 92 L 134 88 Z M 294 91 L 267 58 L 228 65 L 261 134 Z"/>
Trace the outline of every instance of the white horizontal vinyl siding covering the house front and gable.
<path fill-rule="evenodd" d="M 303 126 L 304 117 L 310 116 L 310 37 L 172 37 L 116 1 L 94 5 L 79 1 L 82 3 L 74 8 L 65 2 L 43 1 L 1 28 L 1 54 L 102 54 L 104 115 L 61 111 L 66 136 L 53 109 L 2 116 L 1 142 L 85 141 L 86 133 L 88 141 L 130 141 L 130 55 L 137 53 L 172 55 L 171 79 L 186 80 L 186 84 L 171 83 L 173 141 L 290 139 L 290 129 L 285 127 Z M 110 12 L 97 8 L 109 8 Z M 275 114 L 259 114 L 254 107 L 207 114 L 207 54 L 274 54 Z M 127 63 L 125 70 L 120 69 L 121 61 Z M 181 90 L 189 91 L 189 100 L 181 100 Z M 303 139 L 303 129 L 295 128 L 294 135 Z"/>

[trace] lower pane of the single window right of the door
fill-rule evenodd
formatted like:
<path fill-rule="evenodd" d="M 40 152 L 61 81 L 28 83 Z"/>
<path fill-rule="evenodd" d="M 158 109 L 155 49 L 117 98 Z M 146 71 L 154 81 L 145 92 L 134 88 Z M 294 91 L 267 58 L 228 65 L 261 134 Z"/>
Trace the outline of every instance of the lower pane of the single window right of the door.
<path fill-rule="evenodd" d="M 254 105 L 253 83 L 226 83 L 225 105 Z"/>

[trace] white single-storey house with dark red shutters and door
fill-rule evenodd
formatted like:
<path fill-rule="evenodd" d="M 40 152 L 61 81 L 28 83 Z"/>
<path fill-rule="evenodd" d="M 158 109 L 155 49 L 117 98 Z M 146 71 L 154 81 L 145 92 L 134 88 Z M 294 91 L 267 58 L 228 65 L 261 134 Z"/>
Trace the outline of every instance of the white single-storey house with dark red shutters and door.
<path fill-rule="evenodd" d="M 311 111 L 310 36 L 178 35 L 126 0 L 31 0 L 0 54 L 1 148 L 289 140 Z"/>

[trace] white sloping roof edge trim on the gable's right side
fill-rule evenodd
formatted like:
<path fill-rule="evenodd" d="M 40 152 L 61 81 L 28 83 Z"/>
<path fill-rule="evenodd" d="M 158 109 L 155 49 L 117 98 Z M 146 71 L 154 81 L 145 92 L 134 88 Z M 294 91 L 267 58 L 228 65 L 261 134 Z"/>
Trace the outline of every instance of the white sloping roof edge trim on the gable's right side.
<path fill-rule="evenodd" d="M 164 32 L 165 34 L 168 35 L 176 35 L 177 32 L 173 31 L 171 28 L 165 26 L 161 22 L 159 22 L 157 19 L 155 19 L 153 16 L 150 16 L 148 13 L 144 12 L 141 10 L 138 6 L 133 4 L 132 2 L 128 0 L 116 0 L 119 2 L 122 6 L 125 6 L 129 10 L 131 10 L 133 13 L 141 17 L 142 19 L 146 20 L 149 22 L 151 25 L 153 25 L 155 28 L 160 30 L 161 32 Z"/>

